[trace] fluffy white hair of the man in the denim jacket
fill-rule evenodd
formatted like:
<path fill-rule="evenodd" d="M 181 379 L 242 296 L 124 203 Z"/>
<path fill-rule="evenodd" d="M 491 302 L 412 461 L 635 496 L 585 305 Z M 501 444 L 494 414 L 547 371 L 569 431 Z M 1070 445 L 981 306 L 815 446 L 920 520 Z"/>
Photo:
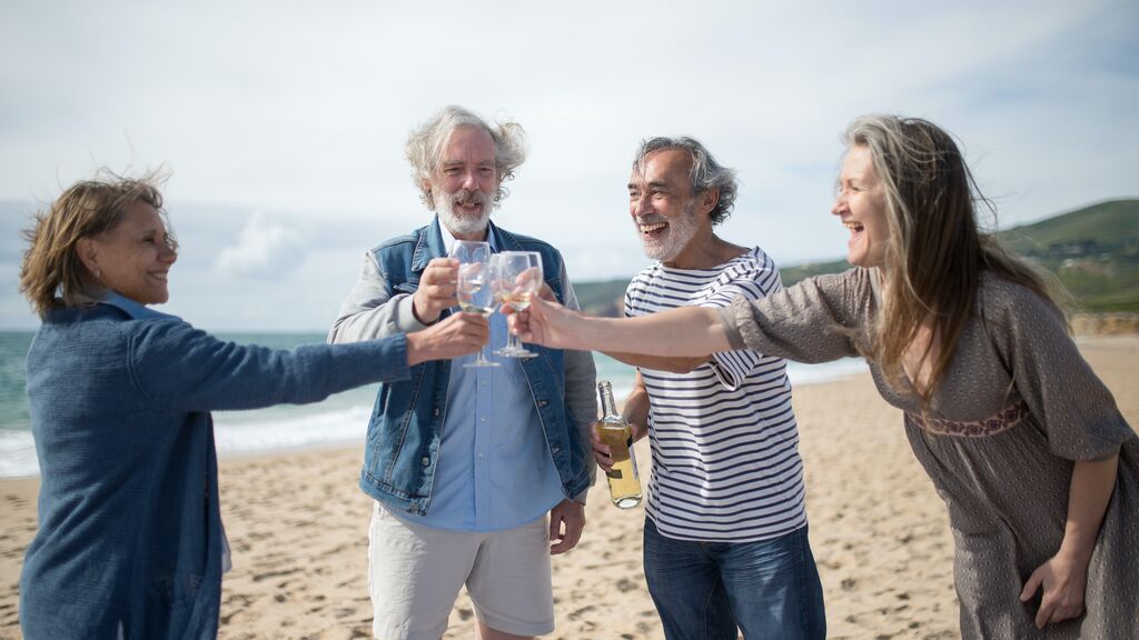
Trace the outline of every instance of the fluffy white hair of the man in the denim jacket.
<path fill-rule="evenodd" d="M 431 192 L 431 181 L 439 170 L 440 157 L 451 133 L 459 128 L 482 129 L 494 140 L 494 169 L 498 172 L 498 205 L 510 191 L 503 186 L 514 179 L 514 172 L 526 161 L 526 132 L 517 122 L 498 122 L 493 126 L 478 115 L 462 107 L 451 105 L 433 115 L 408 136 L 404 153 L 411 163 L 411 179 L 419 188 L 419 199 L 427 208 L 435 211 L 435 199 Z"/>

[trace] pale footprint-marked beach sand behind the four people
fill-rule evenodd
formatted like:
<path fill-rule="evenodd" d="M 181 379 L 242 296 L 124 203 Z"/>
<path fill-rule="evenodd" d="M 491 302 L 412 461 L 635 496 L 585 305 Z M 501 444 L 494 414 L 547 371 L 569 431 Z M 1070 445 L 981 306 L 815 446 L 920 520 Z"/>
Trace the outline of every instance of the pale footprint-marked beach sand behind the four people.
<path fill-rule="evenodd" d="M 1081 350 L 1139 425 L 1139 336 L 1089 338 Z M 945 509 L 910 453 L 901 413 L 868 375 L 797 387 L 794 397 L 828 635 L 956 638 Z M 370 638 L 361 457 L 351 449 L 222 461 L 235 568 L 224 581 L 221 638 Z M 0 638 L 19 638 L 17 580 L 36 490 L 35 479 L 0 481 Z M 547 638 L 662 638 L 641 571 L 642 509 L 611 506 L 601 482 L 587 517 L 577 548 L 554 558 L 557 629 Z M 472 638 L 473 616 L 460 594 L 445 638 Z"/>

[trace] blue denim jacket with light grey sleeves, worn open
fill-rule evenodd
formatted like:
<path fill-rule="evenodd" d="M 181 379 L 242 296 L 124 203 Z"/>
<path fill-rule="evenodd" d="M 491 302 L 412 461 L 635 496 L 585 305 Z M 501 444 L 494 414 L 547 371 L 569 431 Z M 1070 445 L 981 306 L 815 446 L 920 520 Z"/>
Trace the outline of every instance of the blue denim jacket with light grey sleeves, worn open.
<path fill-rule="evenodd" d="M 562 255 L 541 240 L 490 225 L 502 251 L 533 251 L 542 257 L 546 284 L 558 301 L 576 307 Z M 364 257 L 364 268 L 341 309 L 328 339 L 354 342 L 394 331 L 424 328 L 411 312 L 411 296 L 419 277 L 434 257 L 445 256 L 436 219 L 432 224 L 393 238 Z M 445 318 L 450 311 L 444 311 Z M 584 502 L 593 479 L 589 425 L 597 416 L 596 370 L 588 352 L 538 348 L 522 362 L 548 451 L 567 498 Z M 368 424 L 360 487 L 390 507 L 427 514 L 446 417 L 450 361 L 425 362 L 411 368 L 409 380 L 380 386 Z"/>

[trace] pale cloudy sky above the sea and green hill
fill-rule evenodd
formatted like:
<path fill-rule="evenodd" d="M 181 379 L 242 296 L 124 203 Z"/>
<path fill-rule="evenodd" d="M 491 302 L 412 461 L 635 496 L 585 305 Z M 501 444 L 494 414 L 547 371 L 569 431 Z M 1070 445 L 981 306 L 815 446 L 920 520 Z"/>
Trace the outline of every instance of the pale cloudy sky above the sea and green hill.
<path fill-rule="evenodd" d="M 39 323 L 17 290 L 30 214 L 105 166 L 169 172 L 161 310 L 326 330 L 364 252 L 431 220 L 403 145 L 450 104 L 525 128 L 494 220 L 574 281 L 648 263 L 625 184 L 662 134 L 738 171 L 722 237 L 835 260 L 861 114 L 957 136 L 991 228 L 1139 195 L 1139 2 L 0 0 L 0 329 Z"/>

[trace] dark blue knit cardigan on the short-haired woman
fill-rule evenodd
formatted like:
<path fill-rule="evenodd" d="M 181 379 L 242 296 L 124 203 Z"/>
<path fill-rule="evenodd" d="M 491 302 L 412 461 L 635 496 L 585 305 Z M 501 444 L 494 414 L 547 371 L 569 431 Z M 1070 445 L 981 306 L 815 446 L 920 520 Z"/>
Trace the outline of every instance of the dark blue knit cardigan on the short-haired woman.
<path fill-rule="evenodd" d="M 224 542 L 210 411 L 317 402 L 407 377 L 407 358 L 403 336 L 236 345 L 116 294 L 50 310 L 27 354 L 41 484 L 24 638 L 214 638 Z"/>

